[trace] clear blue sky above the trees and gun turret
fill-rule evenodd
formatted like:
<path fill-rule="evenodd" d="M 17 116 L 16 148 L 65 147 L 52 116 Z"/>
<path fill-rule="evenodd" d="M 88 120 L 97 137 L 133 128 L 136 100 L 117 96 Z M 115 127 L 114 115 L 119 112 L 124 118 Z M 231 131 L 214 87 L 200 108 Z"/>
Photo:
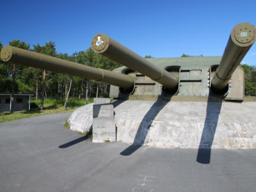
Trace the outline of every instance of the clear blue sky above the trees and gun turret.
<path fill-rule="evenodd" d="M 221 56 L 239 22 L 256 26 L 256 1 L 1 0 L 0 41 L 55 42 L 57 52 L 90 47 L 105 33 L 141 56 Z M 256 65 L 256 45 L 243 62 Z"/>

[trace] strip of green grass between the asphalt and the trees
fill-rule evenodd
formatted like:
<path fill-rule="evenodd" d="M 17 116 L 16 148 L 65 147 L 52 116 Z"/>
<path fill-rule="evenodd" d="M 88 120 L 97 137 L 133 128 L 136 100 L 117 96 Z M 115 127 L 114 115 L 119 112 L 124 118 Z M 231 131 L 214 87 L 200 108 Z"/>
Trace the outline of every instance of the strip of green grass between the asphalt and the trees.
<path fill-rule="evenodd" d="M 89 100 L 92 103 L 93 99 Z M 28 118 L 31 116 L 48 115 L 54 113 L 68 113 L 73 112 L 77 108 L 85 105 L 85 99 L 70 98 L 67 102 L 67 109 L 64 109 L 64 99 L 45 99 L 44 110 L 40 110 L 41 100 L 31 100 L 31 110 L 17 111 L 13 113 L 0 113 L 0 123 L 8 122 L 12 120 L 18 120 L 21 118 Z"/>

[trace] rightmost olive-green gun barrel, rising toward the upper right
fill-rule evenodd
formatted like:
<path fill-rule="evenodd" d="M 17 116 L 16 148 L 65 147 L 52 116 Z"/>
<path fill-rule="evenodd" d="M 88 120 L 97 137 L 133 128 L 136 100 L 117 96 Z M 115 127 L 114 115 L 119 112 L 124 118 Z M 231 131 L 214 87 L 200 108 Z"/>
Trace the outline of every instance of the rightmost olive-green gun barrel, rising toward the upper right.
<path fill-rule="evenodd" d="M 216 73 L 212 77 L 211 88 L 214 93 L 224 93 L 228 82 L 255 42 L 256 28 L 248 23 L 237 24 L 231 31 L 227 46 Z"/>

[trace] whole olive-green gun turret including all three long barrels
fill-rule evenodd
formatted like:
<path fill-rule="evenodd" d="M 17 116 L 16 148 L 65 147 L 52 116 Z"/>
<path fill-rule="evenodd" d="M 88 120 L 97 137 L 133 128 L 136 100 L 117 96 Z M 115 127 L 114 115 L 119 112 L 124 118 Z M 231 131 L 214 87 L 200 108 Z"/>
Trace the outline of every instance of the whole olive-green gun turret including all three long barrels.
<path fill-rule="evenodd" d="M 182 100 L 216 95 L 243 100 L 244 73 L 237 66 L 255 37 L 255 27 L 244 22 L 232 29 L 222 57 L 145 59 L 107 35 L 95 35 L 93 51 L 124 65 L 114 72 L 9 45 L 3 47 L 1 59 L 111 84 L 109 97 L 113 98 Z"/>

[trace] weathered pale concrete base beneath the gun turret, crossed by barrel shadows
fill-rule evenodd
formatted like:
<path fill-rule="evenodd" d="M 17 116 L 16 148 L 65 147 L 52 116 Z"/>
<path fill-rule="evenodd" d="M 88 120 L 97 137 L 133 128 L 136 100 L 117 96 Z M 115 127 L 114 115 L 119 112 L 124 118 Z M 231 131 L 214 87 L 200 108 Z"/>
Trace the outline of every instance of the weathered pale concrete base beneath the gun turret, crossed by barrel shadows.
<path fill-rule="evenodd" d="M 114 106 L 117 141 L 166 148 L 256 147 L 256 102 L 125 100 Z M 92 114 L 90 109 L 79 113 Z"/>

